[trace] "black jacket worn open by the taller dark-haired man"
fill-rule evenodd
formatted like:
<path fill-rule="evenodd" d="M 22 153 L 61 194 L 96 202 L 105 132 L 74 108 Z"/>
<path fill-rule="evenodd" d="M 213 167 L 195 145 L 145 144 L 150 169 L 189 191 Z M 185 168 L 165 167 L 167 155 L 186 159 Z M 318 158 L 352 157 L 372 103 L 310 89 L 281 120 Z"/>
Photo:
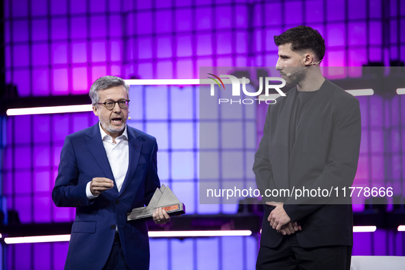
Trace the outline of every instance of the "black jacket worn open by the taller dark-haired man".
<path fill-rule="evenodd" d="M 360 151 L 360 107 L 356 97 L 326 81 L 313 97 L 289 151 L 289 129 L 297 88 L 269 105 L 264 135 L 255 155 L 254 173 L 262 195 L 267 188 L 330 188 L 352 186 Z M 348 190 L 350 191 L 350 190 Z M 335 194 L 336 191 L 334 191 Z M 328 198 L 262 197 L 282 201 L 293 222 L 302 224 L 296 232 L 301 247 L 353 245 L 353 215 L 349 193 Z M 335 198 L 334 198 L 335 197 Z M 276 247 L 282 234 L 270 227 L 267 217 L 273 210 L 265 206 L 260 245 Z"/>

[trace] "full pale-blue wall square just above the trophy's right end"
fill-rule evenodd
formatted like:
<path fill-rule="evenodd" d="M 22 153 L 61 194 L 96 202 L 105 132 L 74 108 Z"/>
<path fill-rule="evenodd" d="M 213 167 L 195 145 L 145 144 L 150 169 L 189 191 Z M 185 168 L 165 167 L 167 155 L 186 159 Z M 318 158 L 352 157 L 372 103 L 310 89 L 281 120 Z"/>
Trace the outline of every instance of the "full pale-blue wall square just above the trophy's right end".
<path fill-rule="evenodd" d="M 173 180 L 194 178 L 194 153 L 181 151 L 171 153 L 171 177 Z"/>

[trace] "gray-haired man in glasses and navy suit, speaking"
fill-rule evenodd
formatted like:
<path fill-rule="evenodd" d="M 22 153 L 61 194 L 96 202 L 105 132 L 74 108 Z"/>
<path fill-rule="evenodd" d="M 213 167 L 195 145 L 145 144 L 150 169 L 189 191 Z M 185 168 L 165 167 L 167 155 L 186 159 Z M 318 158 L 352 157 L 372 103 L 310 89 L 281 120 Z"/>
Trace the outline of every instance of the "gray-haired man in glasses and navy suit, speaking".
<path fill-rule="evenodd" d="M 160 186 L 156 138 L 129 127 L 130 86 L 105 76 L 90 88 L 99 122 L 66 136 L 52 198 L 75 207 L 64 269 L 149 269 L 145 221 L 127 221 L 127 212 L 149 204 Z M 155 223 L 170 221 L 161 208 Z"/>

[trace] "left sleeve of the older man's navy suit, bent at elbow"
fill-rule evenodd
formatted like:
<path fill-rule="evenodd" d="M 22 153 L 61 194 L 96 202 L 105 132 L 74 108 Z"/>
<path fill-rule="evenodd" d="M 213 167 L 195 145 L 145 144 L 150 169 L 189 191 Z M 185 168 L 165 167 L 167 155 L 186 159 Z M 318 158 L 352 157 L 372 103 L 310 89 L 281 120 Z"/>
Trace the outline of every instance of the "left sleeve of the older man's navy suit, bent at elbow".
<path fill-rule="evenodd" d="M 60 154 L 58 177 L 52 191 L 52 199 L 56 206 L 79 207 L 90 204 L 86 196 L 87 183 L 78 184 L 78 178 L 75 150 L 71 138 L 66 136 Z"/>

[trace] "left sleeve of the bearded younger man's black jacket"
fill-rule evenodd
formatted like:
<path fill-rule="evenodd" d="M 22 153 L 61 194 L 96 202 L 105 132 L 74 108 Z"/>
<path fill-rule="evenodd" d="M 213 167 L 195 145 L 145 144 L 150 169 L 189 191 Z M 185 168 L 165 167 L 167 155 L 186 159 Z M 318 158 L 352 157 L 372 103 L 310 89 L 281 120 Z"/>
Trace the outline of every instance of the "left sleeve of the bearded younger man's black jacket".
<path fill-rule="evenodd" d="M 270 106 L 267 110 L 265 127 L 263 128 L 262 140 L 254 155 L 253 171 L 256 175 L 256 185 L 265 201 L 281 201 L 278 197 L 268 197 L 265 195 L 267 189 L 275 189 L 271 164 L 269 161 L 269 128 L 270 128 Z"/>

